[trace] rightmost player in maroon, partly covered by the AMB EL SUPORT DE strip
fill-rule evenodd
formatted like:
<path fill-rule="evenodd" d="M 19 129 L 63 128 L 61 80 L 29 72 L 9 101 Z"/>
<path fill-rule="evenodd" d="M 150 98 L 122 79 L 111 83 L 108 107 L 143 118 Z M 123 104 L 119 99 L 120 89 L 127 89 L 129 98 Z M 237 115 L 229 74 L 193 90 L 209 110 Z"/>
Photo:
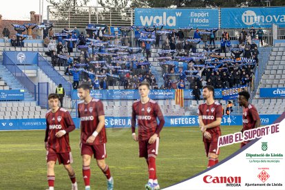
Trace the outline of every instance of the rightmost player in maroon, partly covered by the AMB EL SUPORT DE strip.
<path fill-rule="evenodd" d="M 243 107 L 242 110 L 242 133 L 249 129 L 260 127 L 260 115 L 257 113 L 254 105 L 249 103 L 251 95 L 249 92 L 242 91 L 238 94 L 238 103 Z M 244 141 L 240 144 L 240 148 L 244 147 L 251 140 Z"/>

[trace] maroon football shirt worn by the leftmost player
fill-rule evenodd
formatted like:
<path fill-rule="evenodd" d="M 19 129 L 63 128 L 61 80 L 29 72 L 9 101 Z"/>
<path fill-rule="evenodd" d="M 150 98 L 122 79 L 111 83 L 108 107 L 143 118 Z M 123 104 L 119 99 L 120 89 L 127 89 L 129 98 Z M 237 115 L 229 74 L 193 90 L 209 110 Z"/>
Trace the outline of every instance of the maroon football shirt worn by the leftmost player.
<path fill-rule="evenodd" d="M 45 142 L 50 149 L 57 153 L 70 152 L 70 138 L 68 133 L 75 129 L 74 122 L 67 110 L 60 108 L 55 113 L 52 110 L 45 115 L 47 128 L 45 129 Z M 66 134 L 61 138 L 55 135 L 58 131 L 65 130 Z"/>

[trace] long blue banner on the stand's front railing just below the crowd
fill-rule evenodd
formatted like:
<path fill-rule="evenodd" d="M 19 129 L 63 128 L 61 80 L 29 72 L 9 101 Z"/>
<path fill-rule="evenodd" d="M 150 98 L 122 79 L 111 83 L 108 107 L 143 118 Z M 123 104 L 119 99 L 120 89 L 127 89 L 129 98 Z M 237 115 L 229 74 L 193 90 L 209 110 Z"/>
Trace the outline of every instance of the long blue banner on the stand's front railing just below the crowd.
<path fill-rule="evenodd" d="M 184 89 L 184 99 L 195 98 L 193 89 Z M 201 94 L 202 90 L 200 89 Z M 90 95 L 102 101 L 108 100 L 136 100 L 140 98 L 136 89 L 92 89 Z M 175 89 L 151 89 L 149 98 L 154 100 L 175 99 Z M 202 98 L 202 95 L 201 97 Z M 215 89 L 215 98 L 222 98 L 222 89 Z M 78 100 L 77 90 L 72 90 L 72 100 Z"/>

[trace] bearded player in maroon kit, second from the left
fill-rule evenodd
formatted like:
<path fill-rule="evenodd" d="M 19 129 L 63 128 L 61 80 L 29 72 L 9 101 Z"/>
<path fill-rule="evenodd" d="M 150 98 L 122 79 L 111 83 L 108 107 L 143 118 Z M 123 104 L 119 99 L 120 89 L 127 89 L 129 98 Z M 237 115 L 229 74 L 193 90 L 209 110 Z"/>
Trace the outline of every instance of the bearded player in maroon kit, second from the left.
<path fill-rule="evenodd" d="M 90 96 L 88 83 L 78 86 L 78 96 L 82 101 L 78 103 L 78 117 L 81 118 L 81 156 L 85 189 L 90 189 L 90 162 L 94 155 L 98 167 L 107 177 L 107 190 L 113 190 L 114 180 L 105 163 L 107 136 L 103 103 Z"/>

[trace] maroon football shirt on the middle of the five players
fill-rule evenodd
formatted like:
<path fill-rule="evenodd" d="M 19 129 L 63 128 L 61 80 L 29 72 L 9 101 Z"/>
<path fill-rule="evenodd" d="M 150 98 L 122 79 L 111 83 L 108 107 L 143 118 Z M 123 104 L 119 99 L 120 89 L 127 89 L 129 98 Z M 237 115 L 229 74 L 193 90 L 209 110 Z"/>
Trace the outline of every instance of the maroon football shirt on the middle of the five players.
<path fill-rule="evenodd" d="M 135 101 L 132 106 L 131 131 L 136 131 L 136 119 L 138 120 L 138 140 L 148 140 L 155 133 L 158 134 L 165 124 L 165 119 L 156 101 L 149 99 L 145 104 Z M 160 121 L 159 125 L 157 119 Z"/>

